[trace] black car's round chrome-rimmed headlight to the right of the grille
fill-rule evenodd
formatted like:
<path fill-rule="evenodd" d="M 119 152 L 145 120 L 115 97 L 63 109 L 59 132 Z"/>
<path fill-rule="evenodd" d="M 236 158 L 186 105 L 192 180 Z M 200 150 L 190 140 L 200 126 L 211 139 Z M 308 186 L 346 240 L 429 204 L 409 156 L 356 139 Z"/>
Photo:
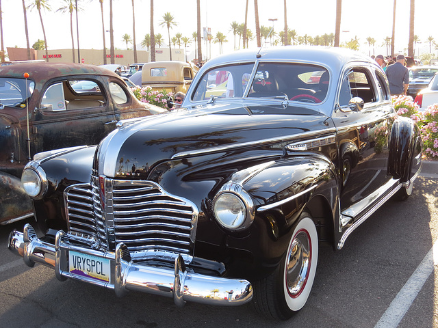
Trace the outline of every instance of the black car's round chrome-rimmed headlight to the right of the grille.
<path fill-rule="evenodd" d="M 254 221 L 254 203 L 250 195 L 233 182 L 224 184 L 213 200 L 218 223 L 231 231 L 244 230 Z"/>

